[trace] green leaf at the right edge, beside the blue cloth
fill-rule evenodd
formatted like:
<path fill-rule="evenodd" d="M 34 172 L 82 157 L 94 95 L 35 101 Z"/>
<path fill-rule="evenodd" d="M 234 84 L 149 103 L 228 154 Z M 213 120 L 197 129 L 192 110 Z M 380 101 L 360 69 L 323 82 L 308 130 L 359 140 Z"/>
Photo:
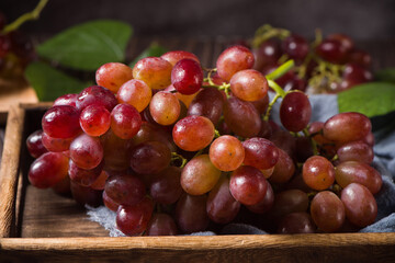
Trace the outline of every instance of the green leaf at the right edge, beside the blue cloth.
<path fill-rule="evenodd" d="M 360 112 L 368 117 L 395 111 L 395 83 L 371 82 L 338 94 L 339 112 Z"/>

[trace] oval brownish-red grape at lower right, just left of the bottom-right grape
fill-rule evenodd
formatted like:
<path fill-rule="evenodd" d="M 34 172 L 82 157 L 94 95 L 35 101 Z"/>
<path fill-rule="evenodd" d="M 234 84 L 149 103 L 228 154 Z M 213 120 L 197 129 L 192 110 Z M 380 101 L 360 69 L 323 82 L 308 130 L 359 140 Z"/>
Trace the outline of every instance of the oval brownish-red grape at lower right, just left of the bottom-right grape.
<path fill-rule="evenodd" d="M 311 214 L 317 227 L 325 232 L 337 231 L 346 219 L 342 202 L 329 191 L 319 192 L 314 196 L 311 204 Z"/>

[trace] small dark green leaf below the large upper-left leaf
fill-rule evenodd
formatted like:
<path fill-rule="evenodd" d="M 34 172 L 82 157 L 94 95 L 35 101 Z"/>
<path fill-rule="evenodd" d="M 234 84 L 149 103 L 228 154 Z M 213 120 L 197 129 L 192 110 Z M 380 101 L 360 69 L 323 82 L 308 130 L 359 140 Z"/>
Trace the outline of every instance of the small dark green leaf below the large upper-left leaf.
<path fill-rule="evenodd" d="M 44 62 L 30 64 L 25 76 L 36 91 L 40 101 L 54 101 L 60 95 L 77 93 L 87 87 L 87 83 L 74 79 Z"/>

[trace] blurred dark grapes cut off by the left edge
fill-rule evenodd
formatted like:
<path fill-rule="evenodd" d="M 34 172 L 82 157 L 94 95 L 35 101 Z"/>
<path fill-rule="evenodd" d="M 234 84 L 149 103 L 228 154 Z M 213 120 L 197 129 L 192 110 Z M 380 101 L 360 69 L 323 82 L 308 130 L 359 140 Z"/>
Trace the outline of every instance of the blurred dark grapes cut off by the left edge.
<path fill-rule="evenodd" d="M 29 62 L 35 57 L 31 39 L 20 31 L 4 32 L 5 15 L 0 11 L 0 78 L 23 76 Z"/>

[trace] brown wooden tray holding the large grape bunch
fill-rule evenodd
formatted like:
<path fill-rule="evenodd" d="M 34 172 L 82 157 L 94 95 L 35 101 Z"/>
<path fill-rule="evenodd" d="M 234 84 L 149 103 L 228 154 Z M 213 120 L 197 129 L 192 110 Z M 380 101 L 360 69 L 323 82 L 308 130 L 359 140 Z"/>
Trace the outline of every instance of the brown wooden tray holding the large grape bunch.
<path fill-rule="evenodd" d="M 26 180 L 24 141 L 49 103 L 8 113 L 0 169 L 0 262 L 395 262 L 395 232 L 109 238 L 83 208 Z M 2 118 L 1 118 L 2 116 Z"/>

